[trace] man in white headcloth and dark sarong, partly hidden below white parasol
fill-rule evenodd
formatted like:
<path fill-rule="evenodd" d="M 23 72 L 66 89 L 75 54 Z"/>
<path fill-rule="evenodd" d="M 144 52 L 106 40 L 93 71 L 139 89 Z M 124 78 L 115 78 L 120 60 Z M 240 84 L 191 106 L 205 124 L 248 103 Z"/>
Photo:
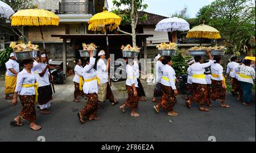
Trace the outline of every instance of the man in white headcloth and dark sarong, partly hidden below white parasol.
<path fill-rule="evenodd" d="M 162 57 L 160 54 L 155 56 L 156 61 L 155 64 L 155 78 L 156 78 L 156 86 L 154 90 L 154 97 L 152 98 L 152 102 L 158 102 L 156 100 L 156 97 L 161 97 L 163 95 L 163 92 L 161 90 L 161 80 L 163 77 L 163 63 L 162 63 Z"/>

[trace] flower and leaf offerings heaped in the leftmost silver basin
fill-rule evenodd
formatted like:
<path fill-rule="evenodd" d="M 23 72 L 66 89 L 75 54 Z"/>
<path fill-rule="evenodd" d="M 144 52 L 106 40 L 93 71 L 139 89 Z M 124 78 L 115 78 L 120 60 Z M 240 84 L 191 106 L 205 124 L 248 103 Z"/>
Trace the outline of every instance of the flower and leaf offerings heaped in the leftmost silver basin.
<path fill-rule="evenodd" d="M 39 51 L 39 46 L 28 42 L 27 44 L 22 42 L 11 42 L 10 47 L 13 49 L 14 52 L 18 51 Z"/>

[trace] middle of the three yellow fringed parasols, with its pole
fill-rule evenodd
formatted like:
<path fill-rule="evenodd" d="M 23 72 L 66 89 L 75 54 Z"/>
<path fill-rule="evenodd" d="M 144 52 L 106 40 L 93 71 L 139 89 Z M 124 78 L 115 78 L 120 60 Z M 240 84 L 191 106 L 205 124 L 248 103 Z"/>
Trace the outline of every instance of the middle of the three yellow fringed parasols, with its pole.
<path fill-rule="evenodd" d="M 90 18 L 88 21 L 88 30 L 92 31 L 104 31 L 106 34 L 107 52 L 109 57 L 109 39 L 108 30 L 113 31 L 115 28 L 121 24 L 120 16 L 108 12 L 105 8 L 102 13 L 97 13 Z"/>

